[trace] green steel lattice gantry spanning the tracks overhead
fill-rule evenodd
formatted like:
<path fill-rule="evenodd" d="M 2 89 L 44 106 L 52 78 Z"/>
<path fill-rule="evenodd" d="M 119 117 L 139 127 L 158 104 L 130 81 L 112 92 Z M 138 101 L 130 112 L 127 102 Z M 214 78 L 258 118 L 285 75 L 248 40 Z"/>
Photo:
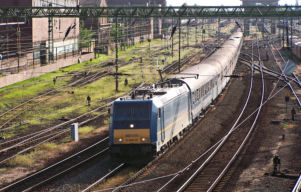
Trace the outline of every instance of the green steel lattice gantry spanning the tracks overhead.
<path fill-rule="evenodd" d="M 0 18 L 39 17 L 299 17 L 301 6 L 0 7 Z"/>

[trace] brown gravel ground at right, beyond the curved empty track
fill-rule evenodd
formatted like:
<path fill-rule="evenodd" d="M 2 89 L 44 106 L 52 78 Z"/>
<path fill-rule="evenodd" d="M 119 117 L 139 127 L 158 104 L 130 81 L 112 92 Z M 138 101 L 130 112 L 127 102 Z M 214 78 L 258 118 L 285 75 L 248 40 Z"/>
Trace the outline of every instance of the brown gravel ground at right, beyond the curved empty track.
<path fill-rule="evenodd" d="M 265 67 L 280 72 L 275 60 L 271 58 L 271 50 L 266 50 L 268 50 L 271 61 L 263 60 L 263 64 Z M 261 54 L 265 55 L 266 50 L 261 50 Z M 287 51 L 280 49 L 280 52 L 284 56 L 284 59 L 287 60 Z M 276 55 L 275 52 L 274 54 Z M 282 61 L 279 56 L 277 59 L 278 61 Z M 267 96 L 272 92 L 272 88 L 275 86 L 275 83 L 270 82 L 270 80 L 265 80 L 265 84 L 267 85 L 267 95 L 265 95 L 265 99 L 267 99 Z M 281 82 L 277 86 L 279 85 L 284 85 L 284 83 Z M 279 89 L 280 88 L 276 87 L 273 94 L 275 94 Z M 223 191 L 291 191 L 293 184 L 291 179 L 264 176 L 265 172 L 271 173 L 273 171 L 272 161 L 275 155 L 279 155 L 279 158 L 281 158 L 281 172 L 299 174 L 301 171 L 300 107 L 298 107 L 296 99 L 294 99 L 291 94 L 290 102 L 287 103 L 287 113 L 285 113 L 285 91 L 290 91 L 290 89 L 284 88 L 279 92 L 279 94 L 265 104 L 259 119 L 259 129 L 255 135 L 255 139 L 253 139 L 254 145 L 248 149 L 245 158 L 240 162 L 240 167 L 233 174 L 231 180 L 228 182 L 227 186 L 224 187 Z M 285 121 L 281 122 L 281 124 L 271 123 L 272 119 L 291 119 L 290 110 L 292 108 L 295 108 L 297 112 L 298 118 L 296 121 Z M 282 140 L 282 134 L 285 134 L 284 140 Z M 285 171 L 286 169 L 287 171 Z"/>

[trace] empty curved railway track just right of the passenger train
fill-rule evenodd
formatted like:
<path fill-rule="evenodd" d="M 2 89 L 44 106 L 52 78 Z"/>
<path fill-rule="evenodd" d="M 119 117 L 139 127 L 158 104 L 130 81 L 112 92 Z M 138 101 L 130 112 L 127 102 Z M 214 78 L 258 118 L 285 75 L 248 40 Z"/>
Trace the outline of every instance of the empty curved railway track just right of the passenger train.
<path fill-rule="evenodd" d="M 253 75 L 255 74 L 252 73 Z M 255 83 L 262 84 L 262 91 L 252 90 Z M 251 79 L 249 96 L 237 121 L 218 145 L 210 149 L 211 152 L 206 155 L 207 157 L 192 167 L 194 170 L 188 179 L 175 191 L 220 191 L 222 189 L 250 142 L 263 100 L 263 89 L 263 79 L 262 81 Z"/>

